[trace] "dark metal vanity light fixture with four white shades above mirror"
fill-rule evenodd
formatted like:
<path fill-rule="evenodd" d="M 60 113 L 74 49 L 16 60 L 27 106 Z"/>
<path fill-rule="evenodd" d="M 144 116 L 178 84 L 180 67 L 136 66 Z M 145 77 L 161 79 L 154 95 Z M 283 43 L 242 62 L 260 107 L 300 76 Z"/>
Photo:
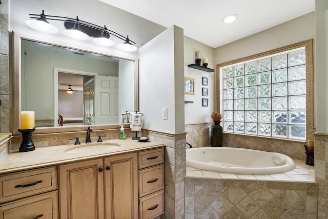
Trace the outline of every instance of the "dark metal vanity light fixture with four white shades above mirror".
<path fill-rule="evenodd" d="M 46 33 L 57 33 L 58 29 L 55 26 L 49 24 L 47 19 L 53 21 L 63 21 L 65 26 L 65 30 L 63 31 L 63 33 L 67 37 L 78 39 L 81 41 L 86 41 L 89 39 L 89 37 L 93 37 L 94 44 L 109 47 L 115 45 L 115 42 L 110 39 L 110 35 L 113 35 L 125 42 L 124 44 L 118 45 L 119 49 L 127 52 L 134 52 L 137 50 L 137 47 L 135 46 L 136 43 L 131 41 L 129 39 L 129 36 L 125 37 L 119 33 L 107 29 L 106 26 L 101 27 L 89 22 L 81 21 L 80 19 L 78 19 L 78 16 L 76 16 L 76 18 L 70 18 L 55 15 L 46 15 L 44 13 L 44 10 L 42 10 L 41 14 L 29 15 L 32 19 L 26 21 L 26 24 L 34 30 Z M 36 20 L 33 20 L 33 18 L 35 18 Z M 39 26 L 50 25 L 51 27 L 55 28 L 56 31 L 47 31 L 45 28 L 37 28 L 38 26 L 32 25 L 36 22 L 38 22 Z"/>

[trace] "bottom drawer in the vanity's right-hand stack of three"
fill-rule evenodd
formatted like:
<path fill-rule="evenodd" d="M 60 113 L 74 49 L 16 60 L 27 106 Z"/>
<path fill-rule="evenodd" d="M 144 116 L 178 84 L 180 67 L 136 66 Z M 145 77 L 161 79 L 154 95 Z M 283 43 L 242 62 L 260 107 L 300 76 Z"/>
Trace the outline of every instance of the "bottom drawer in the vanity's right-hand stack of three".
<path fill-rule="evenodd" d="M 140 198 L 140 218 L 155 218 L 164 213 L 164 190 Z"/>

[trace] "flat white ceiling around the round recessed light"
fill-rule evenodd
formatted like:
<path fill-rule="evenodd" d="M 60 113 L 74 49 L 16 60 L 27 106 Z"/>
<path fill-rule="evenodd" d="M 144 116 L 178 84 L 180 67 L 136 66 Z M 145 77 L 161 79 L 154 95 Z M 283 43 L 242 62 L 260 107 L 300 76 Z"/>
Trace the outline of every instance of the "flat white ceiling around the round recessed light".
<path fill-rule="evenodd" d="M 99 0 L 213 48 L 271 28 L 315 10 L 315 0 Z M 222 17 L 237 14 L 234 23 Z"/>

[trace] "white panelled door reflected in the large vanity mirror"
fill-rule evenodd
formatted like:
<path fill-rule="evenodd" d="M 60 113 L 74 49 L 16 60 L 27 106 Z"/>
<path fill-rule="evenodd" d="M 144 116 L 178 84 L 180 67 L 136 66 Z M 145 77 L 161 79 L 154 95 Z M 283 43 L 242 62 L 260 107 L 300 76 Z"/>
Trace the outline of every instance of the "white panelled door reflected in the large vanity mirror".
<path fill-rule="evenodd" d="M 95 124 L 118 121 L 118 77 L 96 75 Z"/>

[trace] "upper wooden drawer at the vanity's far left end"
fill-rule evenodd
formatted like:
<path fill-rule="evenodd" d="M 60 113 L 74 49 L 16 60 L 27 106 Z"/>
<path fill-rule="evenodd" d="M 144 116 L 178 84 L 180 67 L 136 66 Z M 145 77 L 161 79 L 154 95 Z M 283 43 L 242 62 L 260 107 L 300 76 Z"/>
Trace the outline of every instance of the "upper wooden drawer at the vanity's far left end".
<path fill-rule="evenodd" d="M 0 176 L 0 203 L 57 189 L 56 167 Z"/>

